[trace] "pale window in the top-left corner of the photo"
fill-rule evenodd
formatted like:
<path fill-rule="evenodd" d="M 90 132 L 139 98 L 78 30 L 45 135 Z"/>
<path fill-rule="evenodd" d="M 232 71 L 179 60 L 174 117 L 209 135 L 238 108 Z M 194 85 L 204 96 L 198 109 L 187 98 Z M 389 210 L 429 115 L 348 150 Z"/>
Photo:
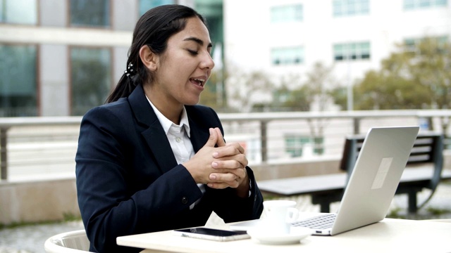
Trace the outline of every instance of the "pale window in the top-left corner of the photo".
<path fill-rule="evenodd" d="M 0 23 L 36 25 L 37 0 L 0 0 Z"/>

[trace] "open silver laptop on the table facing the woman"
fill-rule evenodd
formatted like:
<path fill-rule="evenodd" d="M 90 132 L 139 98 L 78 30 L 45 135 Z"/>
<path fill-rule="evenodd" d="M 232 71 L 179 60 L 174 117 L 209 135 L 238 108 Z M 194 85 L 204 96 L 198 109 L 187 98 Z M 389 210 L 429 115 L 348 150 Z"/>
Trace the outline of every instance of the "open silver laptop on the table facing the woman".
<path fill-rule="evenodd" d="M 419 126 L 373 127 L 365 136 L 336 214 L 319 214 L 292 226 L 308 227 L 314 235 L 336 235 L 376 223 L 390 208 Z M 242 228 L 258 226 L 258 220 Z M 232 229 L 240 229 L 236 224 Z"/>

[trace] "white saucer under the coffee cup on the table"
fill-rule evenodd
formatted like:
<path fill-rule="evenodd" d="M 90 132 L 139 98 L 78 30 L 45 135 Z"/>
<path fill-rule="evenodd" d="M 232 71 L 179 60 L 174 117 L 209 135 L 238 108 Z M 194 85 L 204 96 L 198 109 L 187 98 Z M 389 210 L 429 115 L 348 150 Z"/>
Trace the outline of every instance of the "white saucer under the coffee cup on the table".
<path fill-rule="evenodd" d="M 294 244 L 311 235 L 313 231 L 310 228 L 296 228 L 289 234 L 274 234 L 271 231 L 264 231 L 259 228 L 250 228 L 247 233 L 252 240 L 262 244 Z"/>

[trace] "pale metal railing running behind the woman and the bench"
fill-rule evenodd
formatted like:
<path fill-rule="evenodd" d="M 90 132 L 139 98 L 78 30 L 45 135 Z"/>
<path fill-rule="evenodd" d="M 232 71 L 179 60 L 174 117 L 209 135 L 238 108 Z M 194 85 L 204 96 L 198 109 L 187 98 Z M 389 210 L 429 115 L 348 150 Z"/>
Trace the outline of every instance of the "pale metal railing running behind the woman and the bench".
<path fill-rule="evenodd" d="M 245 145 L 249 164 L 255 164 L 293 160 L 293 150 L 302 151 L 297 160 L 340 157 L 346 135 L 364 134 L 372 126 L 421 125 L 423 131 L 448 135 L 451 110 L 255 112 L 219 117 L 226 141 Z M 1 180 L 75 176 L 80 121 L 81 117 L 0 118 Z M 299 142 L 309 138 L 320 141 Z"/>

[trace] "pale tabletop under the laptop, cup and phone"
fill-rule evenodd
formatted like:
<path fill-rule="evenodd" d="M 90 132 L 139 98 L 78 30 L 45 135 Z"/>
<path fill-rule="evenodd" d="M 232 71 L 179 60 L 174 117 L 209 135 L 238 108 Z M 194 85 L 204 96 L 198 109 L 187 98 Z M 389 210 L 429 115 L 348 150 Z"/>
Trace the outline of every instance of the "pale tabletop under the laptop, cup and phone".
<path fill-rule="evenodd" d="M 230 224 L 220 227 L 228 229 Z M 383 219 L 362 228 L 333 236 L 311 235 L 291 245 L 264 245 L 255 240 L 216 242 L 184 238 L 172 231 L 127 235 L 118 245 L 151 252 L 443 252 L 451 253 L 451 222 Z"/>

